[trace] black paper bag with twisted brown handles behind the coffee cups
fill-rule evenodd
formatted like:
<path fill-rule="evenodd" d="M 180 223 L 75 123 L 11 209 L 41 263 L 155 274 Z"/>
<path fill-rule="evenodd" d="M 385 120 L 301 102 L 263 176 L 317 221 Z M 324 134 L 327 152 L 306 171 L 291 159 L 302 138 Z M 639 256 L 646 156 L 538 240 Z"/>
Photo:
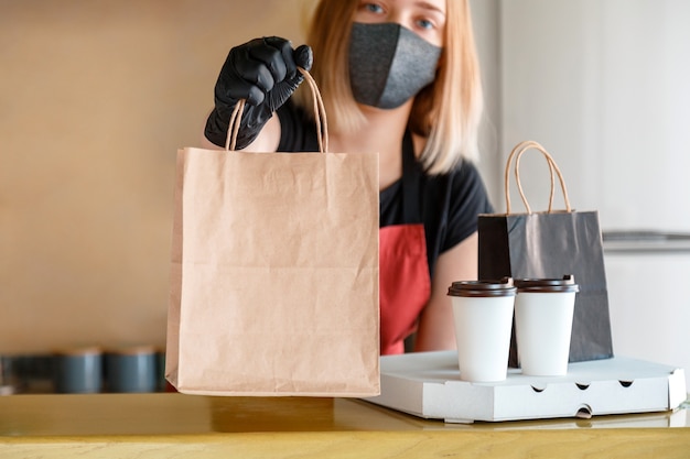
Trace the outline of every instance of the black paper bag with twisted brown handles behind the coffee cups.
<path fill-rule="evenodd" d="M 549 163 L 551 194 L 547 211 L 533 212 L 522 192 L 519 162 L 528 150 L 541 152 Z M 527 210 L 525 214 L 510 211 L 509 172 L 514 159 L 518 192 Z M 554 176 L 560 181 L 564 210 L 552 210 Z M 513 150 L 506 164 L 505 188 L 506 214 L 478 217 L 479 278 L 561 278 L 573 274 L 580 293 L 575 297 L 570 361 L 613 357 L 599 214 L 571 209 L 558 165 L 537 142 L 521 142 Z M 515 328 L 508 364 L 519 367 Z"/>

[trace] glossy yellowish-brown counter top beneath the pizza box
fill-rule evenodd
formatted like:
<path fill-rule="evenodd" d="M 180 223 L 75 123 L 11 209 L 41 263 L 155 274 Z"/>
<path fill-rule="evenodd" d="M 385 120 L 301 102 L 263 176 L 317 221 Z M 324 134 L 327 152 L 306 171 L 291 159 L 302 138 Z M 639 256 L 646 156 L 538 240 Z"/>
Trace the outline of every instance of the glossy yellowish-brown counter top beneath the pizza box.
<path fill-rule="evenodd" d="M 0 458 L 689 458 L 689 411 L 444 424 L 351 398 L 0 397 Z"/>

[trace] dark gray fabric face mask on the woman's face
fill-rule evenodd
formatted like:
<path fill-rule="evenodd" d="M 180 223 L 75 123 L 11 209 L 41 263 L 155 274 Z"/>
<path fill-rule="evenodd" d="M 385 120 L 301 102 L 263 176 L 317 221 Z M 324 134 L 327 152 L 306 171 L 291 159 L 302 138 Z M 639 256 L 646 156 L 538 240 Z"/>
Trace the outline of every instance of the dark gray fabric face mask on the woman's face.
<path fill-rule="evenodd" d="M 433 81 L 441 51 L 397 23 L 353 23 L 349 81 L 355 100 L 400 107 Z"/>

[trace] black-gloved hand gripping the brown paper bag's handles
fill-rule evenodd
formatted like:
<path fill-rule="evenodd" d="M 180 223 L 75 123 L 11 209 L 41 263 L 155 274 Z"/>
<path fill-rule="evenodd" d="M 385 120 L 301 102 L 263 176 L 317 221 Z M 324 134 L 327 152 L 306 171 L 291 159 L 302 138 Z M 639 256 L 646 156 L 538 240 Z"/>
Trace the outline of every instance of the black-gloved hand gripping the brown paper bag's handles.
<path fill-rule="evenodd" d="M 236 149 L 249 145 L 304 79 L 297 67 L 310 70 L 312 61 L 311 47 L 292 50 L 290 42 L 277 36 L 256 39 L 230 50 L 216 81 L 206 139 L 224 146 L 233 109 L 240 99 L 247 99 Z"/>

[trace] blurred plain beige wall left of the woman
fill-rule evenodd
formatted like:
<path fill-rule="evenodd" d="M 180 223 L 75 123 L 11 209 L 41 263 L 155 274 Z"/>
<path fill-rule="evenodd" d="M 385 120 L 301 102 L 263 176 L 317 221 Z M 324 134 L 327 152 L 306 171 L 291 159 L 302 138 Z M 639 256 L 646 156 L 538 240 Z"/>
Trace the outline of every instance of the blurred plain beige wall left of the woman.
<path fill-rule="evenodd" d="M 0 0 L 0 353 L 165 342 L 176 150 L 305 0 Z"/>

